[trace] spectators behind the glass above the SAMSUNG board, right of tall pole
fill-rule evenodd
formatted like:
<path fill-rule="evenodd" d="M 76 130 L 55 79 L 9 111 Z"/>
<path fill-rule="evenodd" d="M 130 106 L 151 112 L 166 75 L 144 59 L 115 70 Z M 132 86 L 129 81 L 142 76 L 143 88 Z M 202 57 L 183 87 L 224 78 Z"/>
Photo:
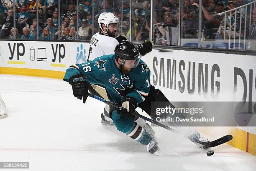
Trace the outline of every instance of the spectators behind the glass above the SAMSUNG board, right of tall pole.
<path fill-rule="evenodd" d="M 159 3 L 162 2 L 162 3 Z M 219 15 L 221 12 L 232 10 L 240 7 L 251 0 L 202 0 L 202 32 L 201 40 L 223 40 L 231 38 L 256 38 L 251 37 L 249 33 L 249 20 L 252 11 L 250 6 L 245 11 L 245 8 L 238 9 L 236 12 L 232 11 L 225 15 Z M 178 29 L 181 26 L 181 38 L 198 39 L 199 26 L 199 2 L 198 0 L 183 0 L 181 24 L 179 24 L 179 1 L 155 0 L 154 11 L 154 42 L 158 45 L 177 45 Z M 256 9 L 255 9 L 256 10 Z M 247 16 L 245 15 L 247 13 Z M 246 16 L 246 17 L 245 17 Z M 231 20 L 231 25 L 230 25 Z M 236 21 L 235 21 L 236 20 Z M 256 20 L 256 19 L 255 19 Z M 245 29 L 245 21 L 247 21 Z M 251 22 L 253 22 L 251 17 Z M 240 22 L 241 29 L 240 29 Z M 256 23 L 256 22 L 255 22 Z M 236 32 L 235 32 L 236 30 Z M 225 34 L 224 34 L 225 32 Z M 230 33 L 231 32 L 231 33 Z M 246 34 L 245 34 L 246 33 Z"/>

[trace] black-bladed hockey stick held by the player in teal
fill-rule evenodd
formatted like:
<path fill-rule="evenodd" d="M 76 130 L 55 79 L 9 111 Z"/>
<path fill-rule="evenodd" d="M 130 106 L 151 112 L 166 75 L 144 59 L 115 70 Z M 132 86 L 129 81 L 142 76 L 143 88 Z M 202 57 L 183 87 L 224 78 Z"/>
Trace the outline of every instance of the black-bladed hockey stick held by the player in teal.
<path fill-rule="evenodd" d="M 94 98 L 94 99 L 100 100 L 101 102 L 104 102 L 105 104 L 108 104 L 108 105 L 110 105 L 110 106 L 113 106 L 113 107 L 115 107 L 115 108 L 117 108 L 117 109 L 123 109 L 123 107 L 121 107 L 121 106 L 118 105 L 117 103 L 107 101 L 107 100 L 105 100 L 105 99 L 102 99 L 101 97 L 95 96 L 95 95 L 92 94 L 92 93 L 88 93 L 88 96 L 90 96 L 90 97 L 92 97 L 92 98 Z M 138 117 L 140 117 L 140 118 L 142 118 L 142 119 L 145 119 L 146 121 L 149 121 L 149 122 L 151 122 L 152 124 L 161 126 L 161 127 L 164 128 L 164 129 L 167 129 L 167 130 L 172 131 L 172 132 L 174 132 L 174 133 L 183 135 L 181 132 L 179 132 L 177 129 L 174 129 L 173 127 L 171 128 L 171 127 L 169 127 L 169 126 L 166 126 L 166 125 L 164 125 L 164 124 L 161 124 L 161 123 L 159 123 L 159 122 L 157 122 L 157 121 L 154 121 L 153 119 L 150 119 L 150 118 L 148 118 L 148 117 L 146 117 L 146 116 L 143 116 L 143 115 L 141 115 L 141 114 L 138 114 L 138 113 L 136 113 L 136 112 L 133 112 L 132 114 L 133 114 L 134 116 L 138 116 Z M 216 139 L 216 140 L 214 140 L 214 141 L 209 141 L 209 142 L 197 141 L 197 142 L 200 143 L 200 144 L 202 144 L 204 149 L 209 149 L 210 147 L 215 147 L 215 146 L 218 146 L 218 145 L 220 145 L 220 144 L 224 144 L 224 143 L 230 141 L 231 139 L 233 139 L 233 136 L 232 136 L 232 135 L 225 135 L 225 136 L 223 136 L 223 137 L 221 137 L 221 138 L 219 138 L 219 139 Z"/>

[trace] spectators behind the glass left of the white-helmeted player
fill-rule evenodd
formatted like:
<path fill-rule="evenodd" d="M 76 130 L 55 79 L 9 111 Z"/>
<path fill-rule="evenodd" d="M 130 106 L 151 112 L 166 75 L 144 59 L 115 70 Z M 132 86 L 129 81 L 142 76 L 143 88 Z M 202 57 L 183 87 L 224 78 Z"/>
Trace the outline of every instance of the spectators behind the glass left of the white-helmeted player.
<path fill-rule="evenodd" d="M 39 2 L 38 12 L 37 2 Z M 61 2 L 63 5 L 61 4 L 61 11 L 58 12 L 58 0 L 16 0 L 15 17 L 13 17 L 13 0 L 0 0 L 0 38 L 14 39 L 15 34 L 15 39 L 57 40 L 60 37 L 61 40 L 90 40 L 93 28 L 90 27 L 92 25 L 90 0 L 79 1 L 79 14 L 74 4 L 76 1 L 61 0 Z M 78 23 L 77 15 L 79 15 Z"/>

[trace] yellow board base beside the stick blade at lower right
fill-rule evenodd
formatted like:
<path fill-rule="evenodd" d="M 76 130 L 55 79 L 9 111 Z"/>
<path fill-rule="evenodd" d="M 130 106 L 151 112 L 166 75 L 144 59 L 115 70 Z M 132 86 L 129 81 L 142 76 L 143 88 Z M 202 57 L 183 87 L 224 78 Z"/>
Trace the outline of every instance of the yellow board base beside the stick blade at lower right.
<path fill-rule="evenodd" d="M 233 139 L 228 142 L 229 145 L 256 155 L 255 134 L 248 133 L 238 128 L 234 128 L 230 134 L 233 136 Z"/>

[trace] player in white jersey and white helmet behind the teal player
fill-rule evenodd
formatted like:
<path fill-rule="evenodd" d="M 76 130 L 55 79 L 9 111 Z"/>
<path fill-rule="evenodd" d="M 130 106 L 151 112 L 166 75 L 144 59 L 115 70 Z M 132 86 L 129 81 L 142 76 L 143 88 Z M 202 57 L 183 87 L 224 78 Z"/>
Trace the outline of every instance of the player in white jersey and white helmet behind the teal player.
<path fill-rule="evenodd" d="M 115 37 L 116 32 L 119 28 L 119 19 L 111 12 L 103 12 L 98 18 L 98 23 L 100 27 L 100 32 L 97 32 L 92 36 L 90 40 L 89 55 L 87 61 L 92 61 L 96 57 L 103 55 L 111 55 L 115 53 L 115 47 L 122 40 L 126 40 L 126 37 L 123 35 L 118 35 Z M 152 43 L 150 41 L 143 42 L 139 45 L 138 48 L 140 54 L 146 55 L 146 53 L 152 51 Z M 100 95 L 104 99 L 108 99 L 107 94 L 105 93 L 105 88 L 99 85 L 91 84 L 89 86 L 91 93 L 95 95 Z M 114 126 L 112 119 L 109 117 L 109 106 L 106 105 L 104 112 L 101 114 L 101 123 L 105 126 Z M 138 119 L 138 124 L 145 128 L 147 132 L 151 135 L 154 135 L 154 130 L 146 124 L 143 119 Z"/>

